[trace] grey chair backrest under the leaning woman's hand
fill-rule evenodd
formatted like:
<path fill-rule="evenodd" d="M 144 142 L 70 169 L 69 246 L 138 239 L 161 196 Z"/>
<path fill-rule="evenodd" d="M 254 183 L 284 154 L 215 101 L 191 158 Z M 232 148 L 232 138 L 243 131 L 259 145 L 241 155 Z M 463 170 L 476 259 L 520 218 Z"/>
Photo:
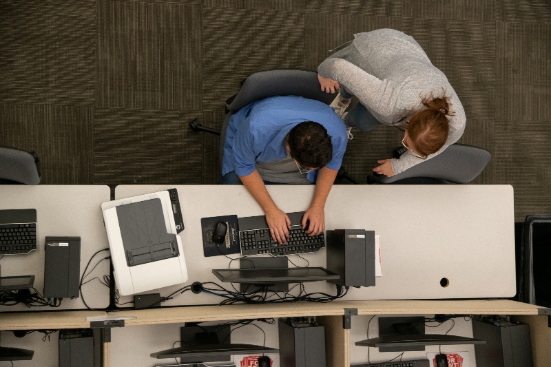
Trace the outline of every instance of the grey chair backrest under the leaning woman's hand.
<path fill-rule="evenodd" d="M 406 169 L 392 177 L 371 177 L 375 183 L 400 183 L 415 177 L 436 178 L 453 183 L 467 183 L 477 177 L 488 165 L 491 155 L 486 149 L 472 145 L 453 144 L 441 154 Z M 404 183 L 408 183 L 404 181 Z"/>

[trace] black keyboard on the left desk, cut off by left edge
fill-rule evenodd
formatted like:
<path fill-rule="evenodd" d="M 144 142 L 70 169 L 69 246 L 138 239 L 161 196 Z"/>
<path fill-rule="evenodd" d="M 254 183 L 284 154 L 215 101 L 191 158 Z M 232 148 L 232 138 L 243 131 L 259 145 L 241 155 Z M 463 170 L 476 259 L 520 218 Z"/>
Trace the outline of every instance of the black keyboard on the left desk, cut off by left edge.
<path fill-rule="evenodd" d="M 0 255 L 30 253 L 37 249 L 37 211 L 0 210 Z"/>

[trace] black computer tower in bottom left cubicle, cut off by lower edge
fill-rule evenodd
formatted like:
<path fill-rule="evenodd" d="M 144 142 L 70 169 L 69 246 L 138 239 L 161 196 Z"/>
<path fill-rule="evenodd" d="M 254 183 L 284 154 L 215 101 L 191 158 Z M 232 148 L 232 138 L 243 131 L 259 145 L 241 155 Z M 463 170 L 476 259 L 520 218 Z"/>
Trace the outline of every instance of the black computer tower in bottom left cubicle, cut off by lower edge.
<path fill-rule="evenodd" d="M 101 329 L 59 331 L 59 367 L 100 367 Z"/>

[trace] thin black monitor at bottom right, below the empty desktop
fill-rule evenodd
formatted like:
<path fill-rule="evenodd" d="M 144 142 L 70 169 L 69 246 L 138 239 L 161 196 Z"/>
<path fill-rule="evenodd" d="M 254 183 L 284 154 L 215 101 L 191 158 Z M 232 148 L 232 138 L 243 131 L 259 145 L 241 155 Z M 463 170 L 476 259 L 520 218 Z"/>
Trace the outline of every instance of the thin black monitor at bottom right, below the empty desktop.
<path fill-rule="evenodd" d="M 486 340 L 472 337 L 458 337 L 444 334 L 410 334 L 373 337 L 356 342 L 357 346 L 372 347 L 408 347 L 408 346 L 440 346 L 453 344 L 486 344 Z"/>

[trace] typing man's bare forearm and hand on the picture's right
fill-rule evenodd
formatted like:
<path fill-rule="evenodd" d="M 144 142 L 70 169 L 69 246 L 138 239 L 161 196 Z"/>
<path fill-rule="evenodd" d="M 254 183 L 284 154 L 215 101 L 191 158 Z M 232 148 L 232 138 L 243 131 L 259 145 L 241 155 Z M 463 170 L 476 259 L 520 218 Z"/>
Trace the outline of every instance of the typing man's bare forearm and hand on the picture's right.
<path fill-rule="evenodd" d="M 306 227 L 306 220 L 310 220 L 308 227 L 309 235 L 319 235 L 325 229 L 325 213 L 324 207 L 329 196 L 329 191 L 333 187 L 333 182 L 337 177 L 338 171 L 323 167 L 318 171 L 318 180 L 315 182 L 315 191 L 312 202 L 304 216 L 302 217 L 302 228 Z"/>

